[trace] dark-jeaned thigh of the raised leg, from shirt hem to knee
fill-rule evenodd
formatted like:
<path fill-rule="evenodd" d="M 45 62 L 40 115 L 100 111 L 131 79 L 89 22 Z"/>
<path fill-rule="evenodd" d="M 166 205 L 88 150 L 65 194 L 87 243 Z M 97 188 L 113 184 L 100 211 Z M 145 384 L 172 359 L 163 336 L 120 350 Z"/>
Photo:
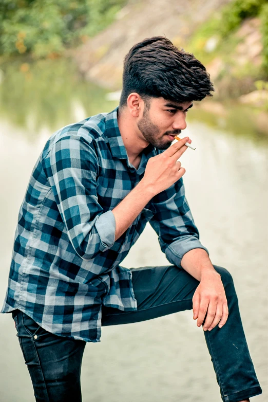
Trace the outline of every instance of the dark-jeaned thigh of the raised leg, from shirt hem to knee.
<path fill-rule="evenodd" d="M 102 308 L 102 325 L 149 320 L 193 308 L 199 281 L 175 265 L 131 268 L 137 311 Z"/>

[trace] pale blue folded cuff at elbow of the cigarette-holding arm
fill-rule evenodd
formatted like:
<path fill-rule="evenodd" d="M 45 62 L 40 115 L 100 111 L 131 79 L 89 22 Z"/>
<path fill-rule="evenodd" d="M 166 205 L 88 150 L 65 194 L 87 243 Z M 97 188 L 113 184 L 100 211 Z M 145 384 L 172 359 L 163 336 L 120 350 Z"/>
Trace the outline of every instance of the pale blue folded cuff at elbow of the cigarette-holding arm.
<path fill-rule="evenodd" d="M 106 251 L 112 247 L 116 238 L 116 218 L 112 211 L 100 215 L 95 222 L 95 229 L 97 229 L 101 239 L 100 251 Z"/>

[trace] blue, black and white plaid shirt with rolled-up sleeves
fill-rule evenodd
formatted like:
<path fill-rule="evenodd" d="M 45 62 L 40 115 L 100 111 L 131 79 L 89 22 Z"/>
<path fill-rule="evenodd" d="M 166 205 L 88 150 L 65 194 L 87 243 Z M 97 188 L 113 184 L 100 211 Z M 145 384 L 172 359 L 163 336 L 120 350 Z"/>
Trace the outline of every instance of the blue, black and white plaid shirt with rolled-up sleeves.
<path fill-rule="evenodd" d="M 102 304 L 137 310 L 131 270 L 120 266 L 149 221 L 167 260 L 203 248 L 184 195 L 182 178 L 153 197 L 114 241 L 112 213 L 142 179 L 129 162 L 118 107 L 56 131 L 30 176 L 18 213 L 8 289 L 1 313 L 18 308 L 45 330 L 100 342 Z"/>

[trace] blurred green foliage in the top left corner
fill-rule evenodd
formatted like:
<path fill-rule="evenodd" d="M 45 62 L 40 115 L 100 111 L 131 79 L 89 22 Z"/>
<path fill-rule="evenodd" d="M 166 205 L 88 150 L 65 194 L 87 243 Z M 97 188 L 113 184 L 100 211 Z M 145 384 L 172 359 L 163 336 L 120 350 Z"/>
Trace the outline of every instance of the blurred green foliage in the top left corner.
<path fill-rule="evenodd" d="M 110 24 L 126 0 L 2 0 L 0 54 L 54 58 Z"/>

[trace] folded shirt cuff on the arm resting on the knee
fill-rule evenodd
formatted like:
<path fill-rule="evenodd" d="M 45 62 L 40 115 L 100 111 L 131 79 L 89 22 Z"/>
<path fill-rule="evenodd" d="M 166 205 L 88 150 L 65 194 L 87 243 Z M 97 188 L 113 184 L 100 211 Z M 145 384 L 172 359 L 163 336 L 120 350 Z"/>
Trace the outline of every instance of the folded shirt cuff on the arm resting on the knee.
<path fill-rule="evenodd" d="M 171 264 L 180 266 L 183 255 L 195 248 L 202 248 L 209 255 L 207 248 L 204 247 L 196 237 L 182 236 L 181 239 L 169 244 L 166 248 L 166 258 Z"/>

